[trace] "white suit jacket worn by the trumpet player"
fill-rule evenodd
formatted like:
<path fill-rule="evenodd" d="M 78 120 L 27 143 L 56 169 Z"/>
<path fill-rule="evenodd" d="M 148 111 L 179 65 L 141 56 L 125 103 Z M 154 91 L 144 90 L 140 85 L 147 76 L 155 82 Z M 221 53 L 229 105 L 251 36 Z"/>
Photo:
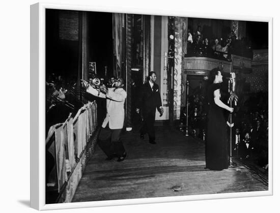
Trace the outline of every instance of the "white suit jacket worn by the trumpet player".
<path fill-rule="evenodd" d="M 109 122 L 109 128 L 112 130 L 122 129 L 124 126 L 124 102 L 126 92 L 123 88 L 108 88 L 108 94 L 99 93 L 97 89 L 89 86 L 87 92 L 107 99 L 107 114 L 103 120 L 102 127 L 105 128 Z"/>

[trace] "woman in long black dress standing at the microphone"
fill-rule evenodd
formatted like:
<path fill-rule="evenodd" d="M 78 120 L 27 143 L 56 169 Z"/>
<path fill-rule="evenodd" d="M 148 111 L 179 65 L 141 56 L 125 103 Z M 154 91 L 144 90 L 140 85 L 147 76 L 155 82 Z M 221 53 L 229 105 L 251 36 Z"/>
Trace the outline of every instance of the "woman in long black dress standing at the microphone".
<path fill-rule="evenodd" d="M 220 83 L 222 74 L 219 69 L 211 71 L 211 82 L 208 87 L 208 133 L 205 144 L 206 168 L 222 170 L 228 168 L 227 124 L 223 116 L 223 109 L 233 112 L 233 108 L 220 100 Z"/>

